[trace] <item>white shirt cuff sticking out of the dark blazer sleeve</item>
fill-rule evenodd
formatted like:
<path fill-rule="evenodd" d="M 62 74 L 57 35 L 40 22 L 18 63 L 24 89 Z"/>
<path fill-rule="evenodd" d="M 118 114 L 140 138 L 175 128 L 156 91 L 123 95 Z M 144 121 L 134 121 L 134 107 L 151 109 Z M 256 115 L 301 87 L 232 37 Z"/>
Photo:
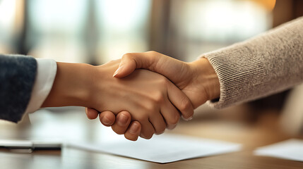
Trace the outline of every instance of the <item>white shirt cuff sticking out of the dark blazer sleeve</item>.
<path fill-rule="evenodd" d="M 35 112 L 42 106 L 44 100 L 52 89 L 52 84 L 54 83 L 54 78 L 57 74 L 56 61 L 48 58 L 36 58 L 36 60 L 36 80 L 32 87 L 32 94 L 25 113 Z"/>

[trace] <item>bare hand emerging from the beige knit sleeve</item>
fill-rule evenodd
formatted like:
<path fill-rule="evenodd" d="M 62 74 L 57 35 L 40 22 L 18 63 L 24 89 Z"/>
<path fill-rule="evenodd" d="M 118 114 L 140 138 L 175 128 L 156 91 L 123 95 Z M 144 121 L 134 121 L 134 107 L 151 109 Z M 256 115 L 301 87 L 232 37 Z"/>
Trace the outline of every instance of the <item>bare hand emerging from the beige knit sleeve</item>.
<path fill-rule="evenodd" d="M 208 100 L 218 99 L 220 96 L 218 76 L 206 58 L 198 59 L 192 63 L 185 63 L 155 51 L 125 54 L 121 59 L 118 70 L 114 73 L 114 77 L 126 77 L 138 68 L 145 68 L 160 73 L 170 79 L 189 97 L 194 108 L 201 106 L 201 104 L 204 104 Z M 88 108 L 87 113 L 97 114 L 97 111 Z M 109 115 L 109 112 L 107 114 L 103 114 L 102 112 L 100 115 L 104 117 Z M 116 125 L 118 120 L 111 123 Z M 113 127 L 113 130 L 117 130 L 117 127 Z M 124 131 L 122 127 L 118 130 Z M 125 134 L 131 135 L 127 131 Z M 131 135 L 131 138 L 133 137 L 136 137 L 136 135 Z"/>

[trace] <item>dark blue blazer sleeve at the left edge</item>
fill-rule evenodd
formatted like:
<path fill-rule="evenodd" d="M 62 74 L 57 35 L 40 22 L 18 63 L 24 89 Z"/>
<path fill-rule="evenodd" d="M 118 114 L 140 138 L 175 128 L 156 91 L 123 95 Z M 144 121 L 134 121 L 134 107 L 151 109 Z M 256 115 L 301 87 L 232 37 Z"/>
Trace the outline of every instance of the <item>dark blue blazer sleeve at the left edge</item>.
<path fill-rule="evenodd" d="M 36 73 L 35 58 L 0 54 L 0 119 L 14 123 L 21 120 Z"/>

